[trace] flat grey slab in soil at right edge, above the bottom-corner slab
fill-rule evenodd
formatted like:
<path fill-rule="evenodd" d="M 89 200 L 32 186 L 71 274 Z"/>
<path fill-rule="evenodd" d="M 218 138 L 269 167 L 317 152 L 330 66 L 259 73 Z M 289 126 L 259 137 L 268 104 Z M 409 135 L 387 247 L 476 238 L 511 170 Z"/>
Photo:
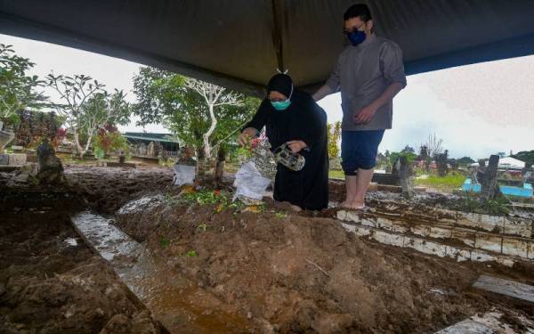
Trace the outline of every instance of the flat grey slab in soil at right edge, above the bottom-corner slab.
<path fill-rule="evenodd" d="M 509 281 L 490 275 L 481 275 L 481 277 L 473 283 L 473 288 L 483 289 L 485 291 L 534 303 L 534 286 L 523 284 L 518 281 Z"/>

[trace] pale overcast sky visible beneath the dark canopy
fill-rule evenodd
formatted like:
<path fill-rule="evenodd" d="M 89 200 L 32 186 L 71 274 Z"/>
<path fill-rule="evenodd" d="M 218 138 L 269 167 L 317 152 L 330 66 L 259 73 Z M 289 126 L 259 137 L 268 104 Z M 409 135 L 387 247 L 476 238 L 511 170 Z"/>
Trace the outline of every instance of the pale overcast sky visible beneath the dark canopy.
<path fill-rule="evenodd" d="M 139 64 L 5 35 L 0 35 L 0 43 L 13 45 L 17 54 L 36 62 L 32 74 L 85 74 L 135 100 L 132 77 Z M 329 123 L 341 120 L 339 94 L 320 105 Z M 145 130 L 167 132 L 158 125 Z M 133 119 L 121 131 L 142 128 L 134 126 Z M 534 150 L 534 56 L 409 76 L 408 86 L 394 100 L 393 128 L 379 150 L 400 151 L 407 144 L 417 148 L 434 133 L 454 158 Z"/>

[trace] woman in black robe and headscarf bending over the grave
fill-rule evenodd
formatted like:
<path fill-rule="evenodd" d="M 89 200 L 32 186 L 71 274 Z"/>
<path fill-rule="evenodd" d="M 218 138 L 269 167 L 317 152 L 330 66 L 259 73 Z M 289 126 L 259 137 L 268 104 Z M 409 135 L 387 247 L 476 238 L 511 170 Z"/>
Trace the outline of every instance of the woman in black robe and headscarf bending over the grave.
<path fill-rule="evenodd" d="M 327 115 L 310 94 L 295 89 L 291 77 L 271 77 L 268 96 L 239 136 L 244 145 L 266 128 L 271 151 L 283 143 L 305 158 L 302 170 L 277 166 L 274 200 L 310 210 L 328 207 Z"/>

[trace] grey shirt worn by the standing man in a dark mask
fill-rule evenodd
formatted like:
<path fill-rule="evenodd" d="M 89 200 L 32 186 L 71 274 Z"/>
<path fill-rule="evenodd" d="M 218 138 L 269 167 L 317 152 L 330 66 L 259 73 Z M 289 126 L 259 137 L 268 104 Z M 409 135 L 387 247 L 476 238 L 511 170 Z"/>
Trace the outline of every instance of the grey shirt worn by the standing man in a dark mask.
<path fill-rule="evenodd" d="M 393 82 L 406 86 L 402 51 L 394 42 L 371 35 L 360 45 L 347 46 L 339 55 L 327 85 L 341 91 L 344 131 L 392 128 L 392 102 L 376 110 L 367 124 L 354 123 L 354 115 L 374 102 Z"/>

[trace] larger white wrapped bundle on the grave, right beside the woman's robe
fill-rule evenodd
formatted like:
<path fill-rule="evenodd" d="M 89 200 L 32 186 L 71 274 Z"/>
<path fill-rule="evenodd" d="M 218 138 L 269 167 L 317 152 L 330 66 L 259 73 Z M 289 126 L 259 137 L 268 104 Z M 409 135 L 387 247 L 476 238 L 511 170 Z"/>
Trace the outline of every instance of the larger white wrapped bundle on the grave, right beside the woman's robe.
<path fill-rule="evenodd" d="M 250 159 L 239 168 L 236 179 L 233 183 L 236 193 L 233 200 L 243 197 L 252 200 L 262 200 L 265 190 L 271 183 L 271 179 L 263 177 L 258 168 L 255 167 L 254 160 Z"/>

